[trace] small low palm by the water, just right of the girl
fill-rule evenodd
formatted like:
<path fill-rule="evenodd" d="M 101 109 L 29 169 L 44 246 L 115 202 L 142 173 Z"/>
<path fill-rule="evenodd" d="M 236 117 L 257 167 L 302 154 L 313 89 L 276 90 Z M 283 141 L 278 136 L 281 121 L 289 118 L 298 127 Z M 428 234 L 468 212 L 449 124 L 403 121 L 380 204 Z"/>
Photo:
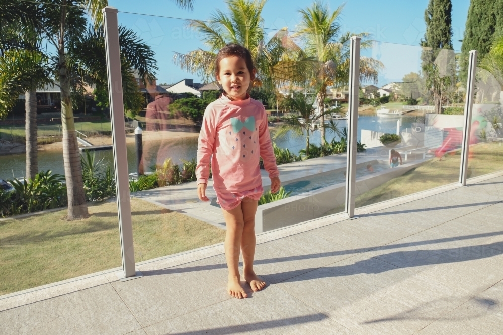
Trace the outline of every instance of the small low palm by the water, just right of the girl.
<path fill-rule="evenodd" d="M 300 118 L 296 115 L 289 115 L 286 120 L 272 130 L 273 139 L 281 138 L 287 134 L 293 134 L 294 137 L 306 138 L 306 156 L 309 156 L 309 139 L 312 133 L 325 128 L 332 130 L 338 135 L 341 135 L 336 122 L 330 120 L 330 123 L 323 125 L 323 118 L 330 111 L 315 114 L 314 102 L 316 101 L 316 93 L 293 93 L 293 97 L 287 97 L 284 104 L 291 110 L 300 114 Z"/>

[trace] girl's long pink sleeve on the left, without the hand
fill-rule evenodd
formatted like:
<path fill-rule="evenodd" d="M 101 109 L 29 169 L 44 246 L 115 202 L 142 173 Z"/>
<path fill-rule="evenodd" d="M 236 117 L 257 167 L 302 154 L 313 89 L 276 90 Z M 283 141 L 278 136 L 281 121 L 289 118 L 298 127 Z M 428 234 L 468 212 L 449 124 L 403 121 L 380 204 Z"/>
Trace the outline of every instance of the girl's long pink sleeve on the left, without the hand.
<path fill-rule="evenodd" d="M 216 117 L 209 106 L 204 111 L 203 125 L 197 140 L 197 184 L 208 184 L 210 175 L 210 159 L 215 148 Z"/>

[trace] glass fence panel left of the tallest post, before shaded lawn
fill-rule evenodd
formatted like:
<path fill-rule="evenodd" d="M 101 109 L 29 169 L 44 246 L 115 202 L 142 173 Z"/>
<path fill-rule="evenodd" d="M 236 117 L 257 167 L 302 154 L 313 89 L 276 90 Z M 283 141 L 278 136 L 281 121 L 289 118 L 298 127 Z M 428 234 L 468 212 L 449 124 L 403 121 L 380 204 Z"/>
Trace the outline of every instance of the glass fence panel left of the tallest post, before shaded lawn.
<path fill-rule="evenodd" d="M 38 5 L 44 7 L 44 13 L 51 6 L 46 3 Z M 53 10 L 60 9 L 56 6 Z M 86 13 L 85 9 L 73 12 L 82 20 L 88 20 Z M 61 90 L 68 87 L 61 88 L 60 78 L 53 75 L 57 73 L 56 65 L 48 61 L 58 55 L 57 46 L 51 44 L 51 41 L 57 41 L 57 36 L 41 36 L 43 43 L 40 43 L 38 53 L 13 47 L 0 55 L 0 61 L 4 63 L 9 59 L 6 55 L 15 55 L 18 60 L 26 62 L 23 64 L 38 64 L 38 73 L 48 72 L 48 78 L 41 78 L 45 84 L 38 85 L 31 94 L 25 94 L 21 86 L 9 87 L 19 99 L 14 101 L 6 115 L 0 116 L 0 217 L 12 217 L 0 222 L 0 295 L 121 266 L 110 113 L 108 108 L 100 105 L 100 102 L 108 101 L 105 51 L 100 47 L 87 47 L 103 45 L 103 37 L 88 32 L 91 24 L 88 22 L 82 31 L 68 28 L 68 34 L 74 34 L 72 37 L 78 37 L 80 41 L 71 44 L 68 41 L 65 45 L 66 56 L 78 62 L 78 66 L 67 68 L 72 119 L 78 131 L 78 147 L 88 146 L 89 159 L 85 151 L 79 151 L 73 145 L 75 142 L 63 139 L 66 128 L 61 123 L 61 109 L 64 108 Z M 90 32 L 93 31 L 91 26 L 89 28 Z M 59 32 L 59 29 L 48 27 L 47 31 Z M 93 40 L 101 43 L 92 43 Z M 36 59 L 39 59 L 38 63 L 29 63 Z M 23 70 L 20 77 L 33 76 L 31 73 Z M 105 95 L 101 95 L 101 99 L 97 98 L 98 88 L 104 88 L 101 93 L 105 92 Z M 33 104 L 27 119 L 25 102 L 30 97 Z M 34 134 L 35 149 L 38 143 L 38 150 L 28 154 L 25 129 Z M 74 135 L 74 132 L 69 134 Z M 74 139 L 73 136 L 67 138 Z M 70 149 L 74 148 L 70 154 L 77 158 L 70 168 L 76 172 L 73 177 L 66 174 L 66 179 L 64 141 Z M 109 145 L 106 150 L 93 151 L 103 144 Z M 30 164 L 35 166 L 33 175 L 38 173 L 33 180 L 26 178 L 31 175 L 27 171 L 27 156 Z M 86 210 L 83 208 L 87 207 L 89 217 L 78 219 L 79 213 L 75 210 L 77 219 L 67 220 L 67 215 L 71 214 L 65 208 L 71 200 L 67 200 L 67 181 L 82 177 L 78 173 L 80 166 L 84 171 L 84 186 L 77 185 L 74 190 L 87 200 L 81 207 L 84 214 Z M 34 212 L 39 213 L 33 215 Z"/>

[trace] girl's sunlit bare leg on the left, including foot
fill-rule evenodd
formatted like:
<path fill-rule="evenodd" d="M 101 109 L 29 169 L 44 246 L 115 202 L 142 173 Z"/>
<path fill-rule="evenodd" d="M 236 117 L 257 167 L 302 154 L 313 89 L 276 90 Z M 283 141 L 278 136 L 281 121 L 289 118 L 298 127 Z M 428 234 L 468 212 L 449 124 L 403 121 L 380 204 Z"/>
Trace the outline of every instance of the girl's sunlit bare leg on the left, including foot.
<path fill-rule="evenodd" d="M 222 209 L 227 226 L 225 234 L 225 259 L 229 269 L 229 281 L 227 292 L 238 299 L 246 298 L 248 295 L 241 287 L 241 277 L 239 276 L 239 251 L 241 249 L 241 236 L 243 234 L 243 212 L 241 204 L 234 209 Z"/>

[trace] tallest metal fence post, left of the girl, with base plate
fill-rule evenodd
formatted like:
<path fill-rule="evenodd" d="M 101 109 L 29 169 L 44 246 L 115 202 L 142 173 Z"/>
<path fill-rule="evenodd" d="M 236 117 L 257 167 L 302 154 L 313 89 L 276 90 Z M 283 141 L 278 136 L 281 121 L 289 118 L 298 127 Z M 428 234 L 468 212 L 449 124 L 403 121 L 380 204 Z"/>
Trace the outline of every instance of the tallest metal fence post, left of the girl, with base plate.
<path fill-rule="evenodd" d="M 124 124 L 124 101 L 122 100 L 121 59 L 119 48 L 119 26 L 117 9 L 107 6 L 102 10 L 105 30 L 105 50 L 107 55 L 108 94 L 112 119 L 112 137 L 117 186 L 117 209 L 123 274 L 121 280 L 141 277 L 136 271 L 133 249 L 133 227 L 131 222 L 131 202 L 129 196 L 129 173 L 127 168 L 126 127 Z"/>

